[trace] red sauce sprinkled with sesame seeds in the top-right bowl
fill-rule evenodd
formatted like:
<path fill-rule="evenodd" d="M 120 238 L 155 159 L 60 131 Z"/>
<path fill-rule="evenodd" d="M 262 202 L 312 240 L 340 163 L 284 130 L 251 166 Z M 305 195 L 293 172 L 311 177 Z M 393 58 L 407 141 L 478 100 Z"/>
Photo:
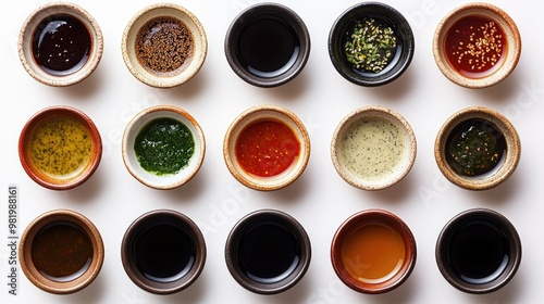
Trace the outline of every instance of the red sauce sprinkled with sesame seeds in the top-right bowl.
<path fill-rule="evenodd" d="M 445 48 L 449 64 L 459 74 L 483 78 L 502 65 L 507 41 L 497 22 L 481 15 L 468 15 L 450 27 Z"/>

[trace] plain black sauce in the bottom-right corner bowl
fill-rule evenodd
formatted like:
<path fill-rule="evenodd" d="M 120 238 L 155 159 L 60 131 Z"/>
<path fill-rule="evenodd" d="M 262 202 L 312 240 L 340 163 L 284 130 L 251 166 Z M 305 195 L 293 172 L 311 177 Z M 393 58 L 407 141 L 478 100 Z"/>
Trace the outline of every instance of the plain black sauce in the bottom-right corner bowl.
<path fill-rule="evenodd" d="M 469 283 L 487 283 L 497 278 L 506 268 L 508 253 L 505 235 L 486 220 L 461 225 L 447 243 L 450 267 Z"/>

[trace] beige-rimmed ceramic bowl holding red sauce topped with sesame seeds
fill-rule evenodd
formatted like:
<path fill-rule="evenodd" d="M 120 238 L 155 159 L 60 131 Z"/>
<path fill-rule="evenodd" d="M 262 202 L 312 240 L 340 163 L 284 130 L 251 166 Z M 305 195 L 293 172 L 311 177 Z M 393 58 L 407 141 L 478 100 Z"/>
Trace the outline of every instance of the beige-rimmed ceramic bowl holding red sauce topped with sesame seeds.
<path fill-rule="evenodd" d="M 458 21 L 474 16 L 480 18 L 484 17 L 490 22 L 493 22 L 494 25 L 498 26 L 498 28 L 504 31 L 505 45 L 504 48 L 500 48 L 502 52 L 497 51 L 497 54 L 493 53 L 495 58 L 493 58 L 492 54 L 489 55 L 489 58 L 491 58 L 493 61 L 493 65 L 487 64 L 485 66 L 479 66 L 478 64 L 475 64 L 475 62 L 471 62 L 475 65 L 463 68 L 462 72 L 459 72 L 461 69 L 454 67 L 453 64 L 455 64 L 455 59 L 460 58 L 460 55 L 456 54 L 455 58 L 453 56 L 453 54 L 448 55 L 446 48 L 450 46 L 447 46 L 446 43 L 446 41 L 448 41 L 447 37 L 455 30 L 452 30 L 452 28 L 457 24 Z M 478 36 L 480 36 L 480 34 L 478 34 Z M 456 38 L 453 38 L 452 40 L 455 39 Z M 491 35 L 490 33 L 489 37 L 486 37 L 485 40 L 497 41 L 498 43 L 499 39 L 496 35 Z M 470 42 L 463 43 L 462 46 L 465 45 L 467 46 L 467 48 L 469 46 L 473 46 Z M 479 50 L 478 47 L 473 49 L 475 49 L 477 51 Z M 494 50 L 498 50 L 498 48 Z M 452 52 L 452 50 L 449 50 L 449 52 Z M 466 88 L 485 88 L 502 81 L 511 74 L 511 72 L 518 64 L 521 54 L 521 37 L 516 23 L 506 12 L 504 12 L 499 8 L 489 3 L 467 3 L 453 10 L 441 21 L 434 34 L 433 53 L 434 60 L 436 61 L 436 65 L 438 66 L 440 71 L 454 84 Z M 449 56 L 454 59 L 450 60 Z M 468 58 L 469 56 L 467 56 L 466 59 L 461 58 L 459 60 L 461 60 L 461 62 L 465 62 Z M 479 72 L 479 68 L 487 71 L 485 73 L 481 73 Z"/>

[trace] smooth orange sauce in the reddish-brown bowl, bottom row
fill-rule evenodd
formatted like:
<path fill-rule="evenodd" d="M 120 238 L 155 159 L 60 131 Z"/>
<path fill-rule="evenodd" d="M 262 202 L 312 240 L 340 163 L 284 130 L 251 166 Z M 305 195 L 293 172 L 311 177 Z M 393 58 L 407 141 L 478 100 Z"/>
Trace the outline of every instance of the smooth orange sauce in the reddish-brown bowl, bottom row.
<path fill-rule="evenodd" d="M 392 227 L 369 223 L 355 228 L 342 245 L 342 261 L 355 279 L 380 283 L 393 277 L 406 258 L 403 237 Z"/>

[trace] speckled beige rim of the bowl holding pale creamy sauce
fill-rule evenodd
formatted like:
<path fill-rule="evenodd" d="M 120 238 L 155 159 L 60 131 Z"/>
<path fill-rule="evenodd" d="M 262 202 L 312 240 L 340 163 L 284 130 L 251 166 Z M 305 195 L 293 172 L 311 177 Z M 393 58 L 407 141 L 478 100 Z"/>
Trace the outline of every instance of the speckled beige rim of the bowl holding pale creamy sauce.
<path fill-rule="evenodd" d="M 380 182 L 370 182 L 362 178 L 356 177 L 354 174 L 349 173 L 347 168 L 344 167 L 343 162 L 338 156 L 338 144 L 341 143 L 343 131 L 354 122 L 362 117 L 381 117 L 394 122 L 395 125 L 403 131 L 405 142 L 410 144 L 405 149 L 405 152 L 407 152 L 407 156 L 405 156 L 405 160 L 403 160 L 403 162 L 405 162 L 406 164 L 399 167 L 399 170 L 397 173 L 384 177 L 383 181 Z M 403 115 L 385 106 L 368 105 L 353 111 L 338 123 L 331 140 L 331 159 L 336 173 L 347 183 L 361 190 L 382 190 L 394 186 L 408 175 L 413 166 L 413 163 L 416 162 L 417 145 L 418 144 L 413 129 Z"/>

